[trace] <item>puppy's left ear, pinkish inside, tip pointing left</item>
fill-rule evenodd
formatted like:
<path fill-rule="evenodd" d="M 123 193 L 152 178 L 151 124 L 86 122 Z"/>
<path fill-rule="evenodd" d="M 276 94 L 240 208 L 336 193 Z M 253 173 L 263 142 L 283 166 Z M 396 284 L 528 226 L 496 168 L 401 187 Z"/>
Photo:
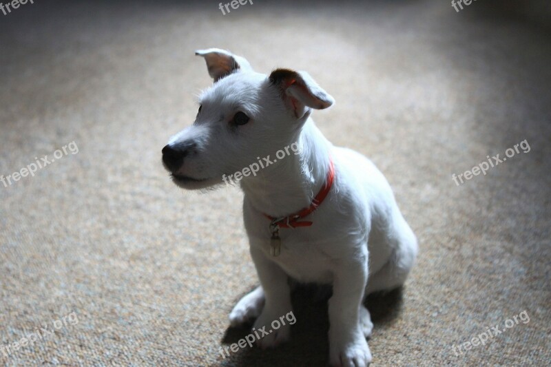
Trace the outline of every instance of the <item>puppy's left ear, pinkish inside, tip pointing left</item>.
<path fill-rule="evenodd" d="M 209 75 L 215 82 L 239 70 L 253 71 L 251 64 L 244 57 L 231 54 L 226 50 L 209 48 L 207 50 L 197 50 L 195 54 L 205 58 Z"/>

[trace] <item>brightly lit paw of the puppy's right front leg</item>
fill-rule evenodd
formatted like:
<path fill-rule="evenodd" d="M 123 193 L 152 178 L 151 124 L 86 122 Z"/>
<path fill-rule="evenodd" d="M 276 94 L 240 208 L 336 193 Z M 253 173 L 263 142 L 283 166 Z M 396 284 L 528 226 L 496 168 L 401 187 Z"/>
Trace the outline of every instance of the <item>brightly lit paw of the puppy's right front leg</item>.
<path fill-rule="evenodd" d="M 362 333 L 349 338 L 330 340 L 331 366 L 367 367 L 371 363 L 371 351 Z"/>

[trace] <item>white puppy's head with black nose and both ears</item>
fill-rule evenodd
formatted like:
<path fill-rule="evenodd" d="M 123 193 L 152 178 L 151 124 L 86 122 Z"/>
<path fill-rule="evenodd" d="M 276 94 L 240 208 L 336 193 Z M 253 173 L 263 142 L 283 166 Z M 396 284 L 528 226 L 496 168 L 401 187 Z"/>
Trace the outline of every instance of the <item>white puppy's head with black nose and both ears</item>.
<path fill-rule="evenodd" d="M 185 189 L 220 184 L 251 162 L 296 146 L 311 110 L 333 104 L 306 72 L 278 69 L 267 76 L 225 50 L 196 54 L 207 61 L 214 85 L 201 94 L 193 125 L 163 148 L 163 165 Z"/>

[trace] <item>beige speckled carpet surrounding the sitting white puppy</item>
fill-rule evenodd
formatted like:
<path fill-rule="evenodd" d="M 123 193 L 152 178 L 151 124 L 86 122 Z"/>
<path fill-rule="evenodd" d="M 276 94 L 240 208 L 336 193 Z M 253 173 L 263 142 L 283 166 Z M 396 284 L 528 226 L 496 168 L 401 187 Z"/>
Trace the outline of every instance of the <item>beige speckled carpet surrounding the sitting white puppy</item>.
<path fill-rule="evenodd" d="M 0 183 L 0 365 L 326 364 L 326 303 L 308 289 L 291 343 L 219 353 L 247 335 L 227 315 L 258 282 L 241 194 L 181 191 L 160 165 L 211 82 L 194 56 L 207 47 L 308 70 L 337 101 L 314 115 L 322 132 L 391 182 L 420 253 L 402 291 L 368 300 L 373 366 L 548 365 L 551 22 L 545 1 L 512 3 L 258 0 L 223 15 L 218 1 L 35 0 L 0 13 L 0 175 L 61 149 Z M 523 140 L 528 153 L 454 183 Z"/>

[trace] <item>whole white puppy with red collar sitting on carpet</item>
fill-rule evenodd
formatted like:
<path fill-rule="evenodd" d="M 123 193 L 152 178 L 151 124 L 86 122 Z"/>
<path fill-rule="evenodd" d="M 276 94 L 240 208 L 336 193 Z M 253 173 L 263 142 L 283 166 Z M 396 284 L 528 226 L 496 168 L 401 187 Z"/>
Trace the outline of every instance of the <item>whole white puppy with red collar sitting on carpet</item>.
<path fill-rule="evenodd" d="M 404 284 L 417 255 L 391 187 L 370 160 L 333 147 L 315 127 L 312 109 L 334 101 L 309 74 L 278 69 L 267 76 L 225 50 L 196 54 L 214 85 L 200 96 L 194 124 L 163 148 L 163 163 L 185 189 L 240 180 L 260 286 L 233 308 L 231 324 L 256 318 L 257 331 L 269 330 L 291 311 L 289 277 L 332 284 L 330 362 L 368 365 L 373 324 L 362 301 Z M 289 147 L 298 149 L 291 154 Z M 284 148 L 287 156 L 275 158 Z M 282 326 L 258 344 L 276 346 L 289 336 Z"/>

